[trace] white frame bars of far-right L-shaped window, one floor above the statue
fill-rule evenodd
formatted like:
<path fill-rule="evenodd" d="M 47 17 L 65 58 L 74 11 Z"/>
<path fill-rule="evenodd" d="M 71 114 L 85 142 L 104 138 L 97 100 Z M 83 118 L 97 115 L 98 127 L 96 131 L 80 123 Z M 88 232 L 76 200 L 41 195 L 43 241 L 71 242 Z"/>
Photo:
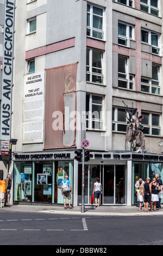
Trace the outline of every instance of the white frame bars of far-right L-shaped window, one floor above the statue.
<path fill-rule="evenodd" d="M 142 86 L 146 86 L 146 87 L 149 87 L 149 92 L 145 92 L 145 93 L 150 93 L 150 94 L 154 94 L 154 95 L 160 95 L 161 94 L 161 87 L 160 87 L 160 66 L 159 65 L 155 65 L 153 64 L 152 65 L 152 68 L 153 66 L 156 66 L 157 68 L 157 72 L 158 72 L 158 80 L 153 80 L 152 78 L 146 78 L 146 77 L 141 77 L 141 85 Z M 148 83 L 146 82 L 142 82 L 142 79 L 145 79 L 145 80 L 148 80 Z M 153 84 L 153 81 L 158 83 L 159 85 L 156 86 L 155 84 Z M 159 89 L 159 93 L 152 93 L 152 89 L 153 88 L 158 88 Z M 143 90 L 141 89 L 141 92 L 143 92 Z"/>

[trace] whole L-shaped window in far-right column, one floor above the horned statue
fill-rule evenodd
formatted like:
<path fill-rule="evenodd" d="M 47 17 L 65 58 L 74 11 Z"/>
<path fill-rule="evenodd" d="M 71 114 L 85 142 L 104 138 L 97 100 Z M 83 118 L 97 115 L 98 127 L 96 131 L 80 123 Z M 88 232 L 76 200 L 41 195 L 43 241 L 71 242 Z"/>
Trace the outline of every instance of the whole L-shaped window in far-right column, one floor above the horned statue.
<path fill-rule="evenodd" d="M 152 79 L 141 77 L 141 92 L 160 95 L 160 67 L 152 65 Z"/>

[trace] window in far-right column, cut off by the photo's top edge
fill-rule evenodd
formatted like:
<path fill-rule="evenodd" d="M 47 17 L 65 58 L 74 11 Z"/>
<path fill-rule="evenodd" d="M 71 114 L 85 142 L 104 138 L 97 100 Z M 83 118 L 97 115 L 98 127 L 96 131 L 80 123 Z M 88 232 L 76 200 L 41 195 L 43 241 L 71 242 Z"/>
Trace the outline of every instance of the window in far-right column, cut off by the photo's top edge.
<path fill-rule="evenodd" d="M 146 13 L 159 16 L 159 1 L 158 0 L 141 0 L 140 9 Z"/>

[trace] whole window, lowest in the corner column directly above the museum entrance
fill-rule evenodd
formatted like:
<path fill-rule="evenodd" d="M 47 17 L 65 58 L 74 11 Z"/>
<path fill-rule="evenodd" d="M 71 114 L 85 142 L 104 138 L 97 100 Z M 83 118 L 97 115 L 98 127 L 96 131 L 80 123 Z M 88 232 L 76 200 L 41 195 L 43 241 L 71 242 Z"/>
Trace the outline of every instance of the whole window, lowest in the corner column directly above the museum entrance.
<path fill-rule="evenodd" d="M 103 97 L 86 95 L 86 128 L 103 130 Z"/>

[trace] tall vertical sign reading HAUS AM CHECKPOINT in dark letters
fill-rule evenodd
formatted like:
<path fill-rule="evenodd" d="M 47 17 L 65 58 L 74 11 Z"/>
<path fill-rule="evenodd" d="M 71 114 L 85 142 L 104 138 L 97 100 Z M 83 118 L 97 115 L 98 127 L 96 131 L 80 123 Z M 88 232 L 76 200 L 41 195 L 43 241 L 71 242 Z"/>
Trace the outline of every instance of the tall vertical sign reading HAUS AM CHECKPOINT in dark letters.
<path fill-rule="evenodd" d="M 0 138 L 10 140 L 15 0 L 5 1 Z"/>

